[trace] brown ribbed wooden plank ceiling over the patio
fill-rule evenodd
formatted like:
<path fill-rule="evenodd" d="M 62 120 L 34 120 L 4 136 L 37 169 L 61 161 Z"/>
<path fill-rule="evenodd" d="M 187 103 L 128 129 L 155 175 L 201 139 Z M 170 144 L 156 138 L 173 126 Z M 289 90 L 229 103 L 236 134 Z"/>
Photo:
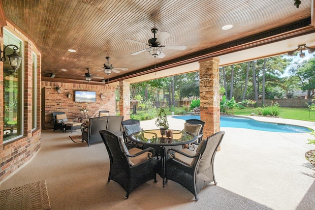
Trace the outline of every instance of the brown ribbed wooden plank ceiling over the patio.
<path fill-rule="evenodd" d="M 117 81 L 150 69 L 206 58 L 226 48 L 298 30 L 311 24 L 312 0 L 2 0 L 11 23 L 25 31 L 42 53 L 42 76 L 85 81 Z M 230 30 L 222 30 L 232 24 Z M 186 45 L 186 50 L 163 48 L 164 58 L 149 52 L 130 55 L 148 46 L 152 28 L 168 31 L 165 45 Z M 266 32 L 267 31 L 267 32 Z M 68 52 L 76 50 L 76 53 Z M 237 49 L 236 49 L 237 50 Z M 107 62 L 127 71 L 106 75 L 96 71 Z M 61 71 L 66 69 L 67 71 Z M 46 78 L 47 79 L 47 78 Z M 49 78 L 53 80 L 53 78 Z"/>

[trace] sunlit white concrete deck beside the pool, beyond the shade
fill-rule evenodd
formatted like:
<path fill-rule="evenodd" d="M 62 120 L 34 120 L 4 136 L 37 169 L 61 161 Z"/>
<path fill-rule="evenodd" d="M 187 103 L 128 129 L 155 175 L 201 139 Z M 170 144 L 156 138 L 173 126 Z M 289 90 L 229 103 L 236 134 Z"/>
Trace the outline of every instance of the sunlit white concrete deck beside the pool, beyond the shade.
<path fill-rule="evenodd" d="M 251 117 L 254 120 L 301 125 L 315 130 L 315 122 Z M 184 120 L 168 117 L 170 128 L 183 129 Z M 143 129 L 155 120 L 141 121 Z M 305 152 L 309 133 L 277 133 L 221 127 L 225 131 L 215 159 L 217 186 L 275 210 L 315 208 L 315 166 Z M 205 137 L 204 137 L 205 138 Z M 200 192 L 200 196 L 206 193 Z M 234 202 L 242 202 L 242 199 Z M 233 209 L 233 207 L 231 207 Z M 211 208 L 210 208 L 211 209 Z"/>

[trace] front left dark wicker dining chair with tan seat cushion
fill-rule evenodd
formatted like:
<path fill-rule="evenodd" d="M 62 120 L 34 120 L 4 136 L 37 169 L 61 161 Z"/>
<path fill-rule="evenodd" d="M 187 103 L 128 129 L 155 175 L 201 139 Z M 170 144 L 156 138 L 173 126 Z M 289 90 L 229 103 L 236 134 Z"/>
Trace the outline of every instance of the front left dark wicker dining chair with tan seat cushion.
<path fill-rule="evenodd" d="M 141 184 L 155 180 L 157 182 L 157 160 L 153 148 L 140 150 L 132 148 L 127 150 L 124 139 L 105 131 L 99 131 L 110 160 L 108 182 L 114 180 L 126 190 L 126 198 L 129 193 Z"/>

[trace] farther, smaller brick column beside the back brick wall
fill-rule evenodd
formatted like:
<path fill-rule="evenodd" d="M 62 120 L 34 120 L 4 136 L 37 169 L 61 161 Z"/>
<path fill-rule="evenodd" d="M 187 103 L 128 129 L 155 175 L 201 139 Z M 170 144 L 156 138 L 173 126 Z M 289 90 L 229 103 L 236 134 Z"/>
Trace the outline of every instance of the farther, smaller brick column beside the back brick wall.
<path fill-rule="evenodd" d="M 119 81 L 119 112 L 124 120 L 130 119 L 130 83 Z"/>

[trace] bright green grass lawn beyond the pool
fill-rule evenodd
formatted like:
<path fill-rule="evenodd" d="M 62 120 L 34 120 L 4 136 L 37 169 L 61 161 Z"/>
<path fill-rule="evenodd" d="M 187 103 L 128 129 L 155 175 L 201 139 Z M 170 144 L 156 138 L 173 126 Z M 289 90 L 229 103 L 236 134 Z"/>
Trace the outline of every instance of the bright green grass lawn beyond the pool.
<path fill-rule="evenodd" d="M 183 107 L 175 107 L 175 114 L 182 112 Z M 315 122 L 315 112 L 309 111 L 308 108 L 284 108 L 280 107 L 280 116 L 284 119 L 293 119 L 293 120 L 306 120 L 306 121 L 313 121 Z M 246 109 L 235 109 L 234 115 L 251 115 L 254 109 L 253 108 L 246 108 Z M 132 112 L 132 110 L 130 110 Z M 134 119 L 143 120 L 141 119 L 141 115 L 148 113 L 147 110 L 137 110 L 137 114 L 134 115 Z M 171 111 L 169 108 L 165 108 L 166 115 L 171 115 Z M 255 112 L 257 113 L 257 112 Z M 156 115 L 158 115 L 158 109 L 156 109 Z"/>

